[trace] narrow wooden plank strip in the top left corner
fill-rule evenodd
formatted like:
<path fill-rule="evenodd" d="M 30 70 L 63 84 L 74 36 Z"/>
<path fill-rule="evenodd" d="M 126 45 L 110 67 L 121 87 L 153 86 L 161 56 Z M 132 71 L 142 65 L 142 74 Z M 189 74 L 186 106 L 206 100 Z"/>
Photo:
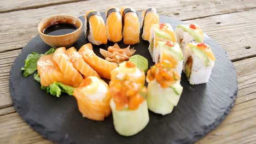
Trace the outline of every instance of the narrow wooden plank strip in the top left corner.
<path fill-rule="evenodd" d="M 8 0 L 0 1 L 0 13 L 7 13 L 9 11 L 25 10 L 25 9 L 36 9 L 40 7 L 47 7 L 49 5 L 64 4 L 79 2 L 80 0 L 38 0 L 36 3 L 32 0 Z"/>

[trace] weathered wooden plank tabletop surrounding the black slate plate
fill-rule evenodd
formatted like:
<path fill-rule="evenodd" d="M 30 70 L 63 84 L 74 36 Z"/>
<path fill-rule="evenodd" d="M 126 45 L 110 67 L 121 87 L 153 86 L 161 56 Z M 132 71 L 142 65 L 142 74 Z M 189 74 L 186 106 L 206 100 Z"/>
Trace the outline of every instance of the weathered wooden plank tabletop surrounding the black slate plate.
<path fill-rule="evenodd" d="M 0 143 L 52 143 L 27 125 L 13 107 L 9 71 L 15 58 L 37 35 L 40 20 L 57 14 L 81 16 L 90 9 L 130 6 L 149 7 L 160 15 L 197 23 L 228 53 L 237 72 L 235 105 L 219 125 L 197 143 L 256 143 L 256 1 L 0 1 Z"/>

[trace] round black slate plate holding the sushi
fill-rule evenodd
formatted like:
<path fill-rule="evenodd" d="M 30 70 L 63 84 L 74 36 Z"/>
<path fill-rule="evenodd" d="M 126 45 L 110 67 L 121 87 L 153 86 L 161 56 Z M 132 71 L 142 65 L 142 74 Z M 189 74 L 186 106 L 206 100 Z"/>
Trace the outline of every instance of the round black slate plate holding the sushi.
<path fill-rule="evenodd" d="M 102 15 L 104 15 L 102 13 Z M 84 21 L 83 16 L 79 17 Z M 176 28 L 181 21 L 160 16 L 160 22 L 170 23 Z M 83 34 L 75 47 L 88 43 Z M 16 58 L 10 71 L 9 88 L 11 99 L 19 115 L 34 130 L 46 139 L 57 143 L 193 143 L 216 128 L 230 112 L 237 94 L 236 71 L 226 52 L 216 41 L 205 35 L 205 43 L 212 47 L 216 63 L 210 81 L 201 85 L 189 85 L 185 75 L 181 84 L 184 87 L 179 104 L 170 115 L 161 116 L 149 112 L 150 121 L 145 129 L 131 137 L 118 135 L 114 130 L 112 115 L 104 122 L 83 118 L 78 111 L 74 97 L 61 95 L 61 98 L 46 94 L 33 75 L 22 76 L 20 68 L 28 54 L 44 53 L 50 49 L 39 35 L 32 39 Z M 119 43 L 121 47 L 125 45 Z M 99 55 L 99 47 L 94 51 Z M 136 44 L 136 54 L 148 58 L 147 41 Z"/>

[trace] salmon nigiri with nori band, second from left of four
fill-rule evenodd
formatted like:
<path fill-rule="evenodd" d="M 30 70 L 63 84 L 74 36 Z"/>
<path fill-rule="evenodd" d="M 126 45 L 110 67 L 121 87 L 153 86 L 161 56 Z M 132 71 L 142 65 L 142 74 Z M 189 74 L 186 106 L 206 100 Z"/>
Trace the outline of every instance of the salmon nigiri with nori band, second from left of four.
<path fill-rule="evenodd" d="M 117 43 L 122 40 L 122 16 L 118 8 L 106 11 L 106 27 L 109 41 Z"/>

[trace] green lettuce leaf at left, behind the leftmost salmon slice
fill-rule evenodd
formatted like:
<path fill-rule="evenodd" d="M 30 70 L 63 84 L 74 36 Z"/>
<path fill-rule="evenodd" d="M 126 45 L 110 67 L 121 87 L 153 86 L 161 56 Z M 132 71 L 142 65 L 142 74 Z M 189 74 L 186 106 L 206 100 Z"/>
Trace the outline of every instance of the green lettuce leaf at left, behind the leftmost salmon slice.
<path fill-rule="evenodd" d="M 23 75 L 25 77 L 31 75 L 34 73 L 34 71 L 37 70 L 37 61 L 39 58 L 43 55 L 49 55 L 51 53 L 54 53 L 55 49 L 51 48 L 49 51 L 45 52 L 44 54 L 38 54 L 37 52 L 31 52 L 30 55 L 27 56 L 25 59 L 25 65 L 21 68 L 21 70 L 24 70 Z"/>

